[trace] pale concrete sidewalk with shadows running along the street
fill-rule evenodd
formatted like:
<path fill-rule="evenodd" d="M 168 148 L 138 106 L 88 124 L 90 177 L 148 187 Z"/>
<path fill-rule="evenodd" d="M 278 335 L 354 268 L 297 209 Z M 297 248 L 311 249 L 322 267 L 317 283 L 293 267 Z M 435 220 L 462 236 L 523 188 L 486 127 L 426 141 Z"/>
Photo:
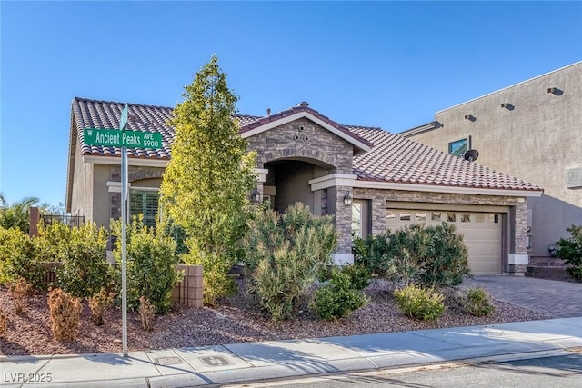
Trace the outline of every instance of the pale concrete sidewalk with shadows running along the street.
<path fill-rule="evenodd" d="M 0 386 L 189 387 L 582 347 L 582 318 L 314 340 L 54 356 L 0 356 Z"/>

